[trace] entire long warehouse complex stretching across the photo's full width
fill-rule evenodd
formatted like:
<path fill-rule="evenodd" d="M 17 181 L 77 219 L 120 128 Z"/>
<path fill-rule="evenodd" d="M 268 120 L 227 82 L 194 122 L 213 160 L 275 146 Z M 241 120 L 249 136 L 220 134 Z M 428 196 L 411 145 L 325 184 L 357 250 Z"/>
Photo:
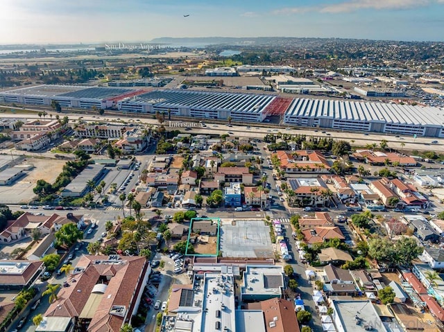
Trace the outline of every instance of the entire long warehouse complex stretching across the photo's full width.
<path fill-rule="evenodd" d="M 0 101 L 31 105 L 108 108 L 121 112 L 171 114 L 192 119 L 262 122 L 283 115 L 284 123 L 301 127 L 444 137 L 444 110 L 438 107 L 344 100 L 283 98 L 274 94 L 109 87 L 39 85 L 0 92 Z"/>

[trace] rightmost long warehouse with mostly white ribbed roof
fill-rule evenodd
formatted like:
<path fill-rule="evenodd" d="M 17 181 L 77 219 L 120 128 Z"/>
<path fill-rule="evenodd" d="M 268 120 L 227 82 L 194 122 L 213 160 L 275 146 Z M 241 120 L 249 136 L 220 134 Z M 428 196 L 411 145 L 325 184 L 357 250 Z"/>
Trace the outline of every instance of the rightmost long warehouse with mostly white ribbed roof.
<path fill-rule="evenodd" d="M 444 137 L 444 111 L 387 103 L 295 98 L 284 122 L 303 127 Z"/>

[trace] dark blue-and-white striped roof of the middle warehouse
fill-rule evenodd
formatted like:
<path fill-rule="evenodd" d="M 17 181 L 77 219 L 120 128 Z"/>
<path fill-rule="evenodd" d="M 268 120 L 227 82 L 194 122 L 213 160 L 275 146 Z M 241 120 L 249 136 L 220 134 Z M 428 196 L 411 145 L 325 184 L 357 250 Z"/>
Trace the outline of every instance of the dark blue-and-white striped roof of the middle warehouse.
<path fill-rule="evenodd" d="M 232 112 L 262 112 L 276 96 L 262 94 L 232 94 L 205 91 L 155 90 L 131 98 L 124 103 L 154 104 L 156 107 L 191 107 L 193 110 L 230 110 Z"/>

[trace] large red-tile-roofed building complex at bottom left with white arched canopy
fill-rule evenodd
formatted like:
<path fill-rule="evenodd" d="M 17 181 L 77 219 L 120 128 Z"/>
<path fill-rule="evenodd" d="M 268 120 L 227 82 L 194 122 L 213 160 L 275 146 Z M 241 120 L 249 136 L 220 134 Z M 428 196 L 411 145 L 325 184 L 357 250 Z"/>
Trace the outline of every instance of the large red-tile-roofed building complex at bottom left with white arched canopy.
<path fill-rule="evenodd" d="M 44 317 L 69 317 L 89 332 L 119 332 L 137 313 L 150 272 L 144 257 L 84 255 Z"/>

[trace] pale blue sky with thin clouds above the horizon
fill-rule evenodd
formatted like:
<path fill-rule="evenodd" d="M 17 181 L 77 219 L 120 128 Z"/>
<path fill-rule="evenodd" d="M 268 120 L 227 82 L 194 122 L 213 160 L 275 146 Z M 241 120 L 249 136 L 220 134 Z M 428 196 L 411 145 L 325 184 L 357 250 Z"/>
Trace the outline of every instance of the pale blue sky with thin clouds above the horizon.
<path fill-rule="evenodd" d="M 1 0 L 0 10 L 0 44 L 211 36 L 443 41 L 443 31 L 444 0 Z"/>

